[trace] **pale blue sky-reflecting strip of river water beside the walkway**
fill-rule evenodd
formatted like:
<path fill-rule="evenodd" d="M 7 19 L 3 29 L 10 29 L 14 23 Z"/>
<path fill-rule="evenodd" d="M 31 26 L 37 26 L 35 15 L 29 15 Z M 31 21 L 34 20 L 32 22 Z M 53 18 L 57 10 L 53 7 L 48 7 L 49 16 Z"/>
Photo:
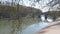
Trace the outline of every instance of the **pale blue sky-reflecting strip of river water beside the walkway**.
<path fill-rule="evenodd" d="M 26 29 L 22 30 L 21 34 L 35 34 L 38 30 L 42 29 L 43 27 L 47 26 L 49 23 L 38 23 L 28 26 Z"/>

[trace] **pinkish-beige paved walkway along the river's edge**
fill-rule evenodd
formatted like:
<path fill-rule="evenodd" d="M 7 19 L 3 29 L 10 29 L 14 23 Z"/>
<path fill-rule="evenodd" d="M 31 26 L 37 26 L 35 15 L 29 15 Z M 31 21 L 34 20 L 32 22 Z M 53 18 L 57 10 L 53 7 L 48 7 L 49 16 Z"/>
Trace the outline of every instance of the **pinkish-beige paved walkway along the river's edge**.
<path fill-rule="evenodd" d="M 39 30 L 36 34 L 60 34 L 60 18 Z"/>

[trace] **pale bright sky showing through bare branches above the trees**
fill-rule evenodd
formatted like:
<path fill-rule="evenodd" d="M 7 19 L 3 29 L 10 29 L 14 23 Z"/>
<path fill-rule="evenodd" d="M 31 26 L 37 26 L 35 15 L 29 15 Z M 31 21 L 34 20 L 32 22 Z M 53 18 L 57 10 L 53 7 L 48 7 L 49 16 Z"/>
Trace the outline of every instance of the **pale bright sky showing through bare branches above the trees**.
<path fill-rule="evenodd" d="M 1 0 L 0 0 L 1 1 Z M 3 2 L 5 1 L 9 1 L 11 2 L 11 0 L 2 0 Z M 39 1 L 39 4 L 38 3 L 35 3 L 35 6 L 33 6 L 34 8 L 37 8 L 37 9 L 41 9 L 42 12 L 47 12 L 49 7 L 46 6 L 47 3 L 49 3 L 50 1 L 52 0 L 41 0 Z M 17 2 L 16 2 L 17 3 Z M 31 3 L 33 3 L 33 1 L 29 1 L 29 0 L 23 0 L 23 5 L 24 6 L 28 6 L 28 7 L 31 7 Z M 20 5 L 22 5 L 22 1 L 20 1 L 19 3 Z M 44 6 L 46 6 L 45 8 L 43 8 Z"/>

